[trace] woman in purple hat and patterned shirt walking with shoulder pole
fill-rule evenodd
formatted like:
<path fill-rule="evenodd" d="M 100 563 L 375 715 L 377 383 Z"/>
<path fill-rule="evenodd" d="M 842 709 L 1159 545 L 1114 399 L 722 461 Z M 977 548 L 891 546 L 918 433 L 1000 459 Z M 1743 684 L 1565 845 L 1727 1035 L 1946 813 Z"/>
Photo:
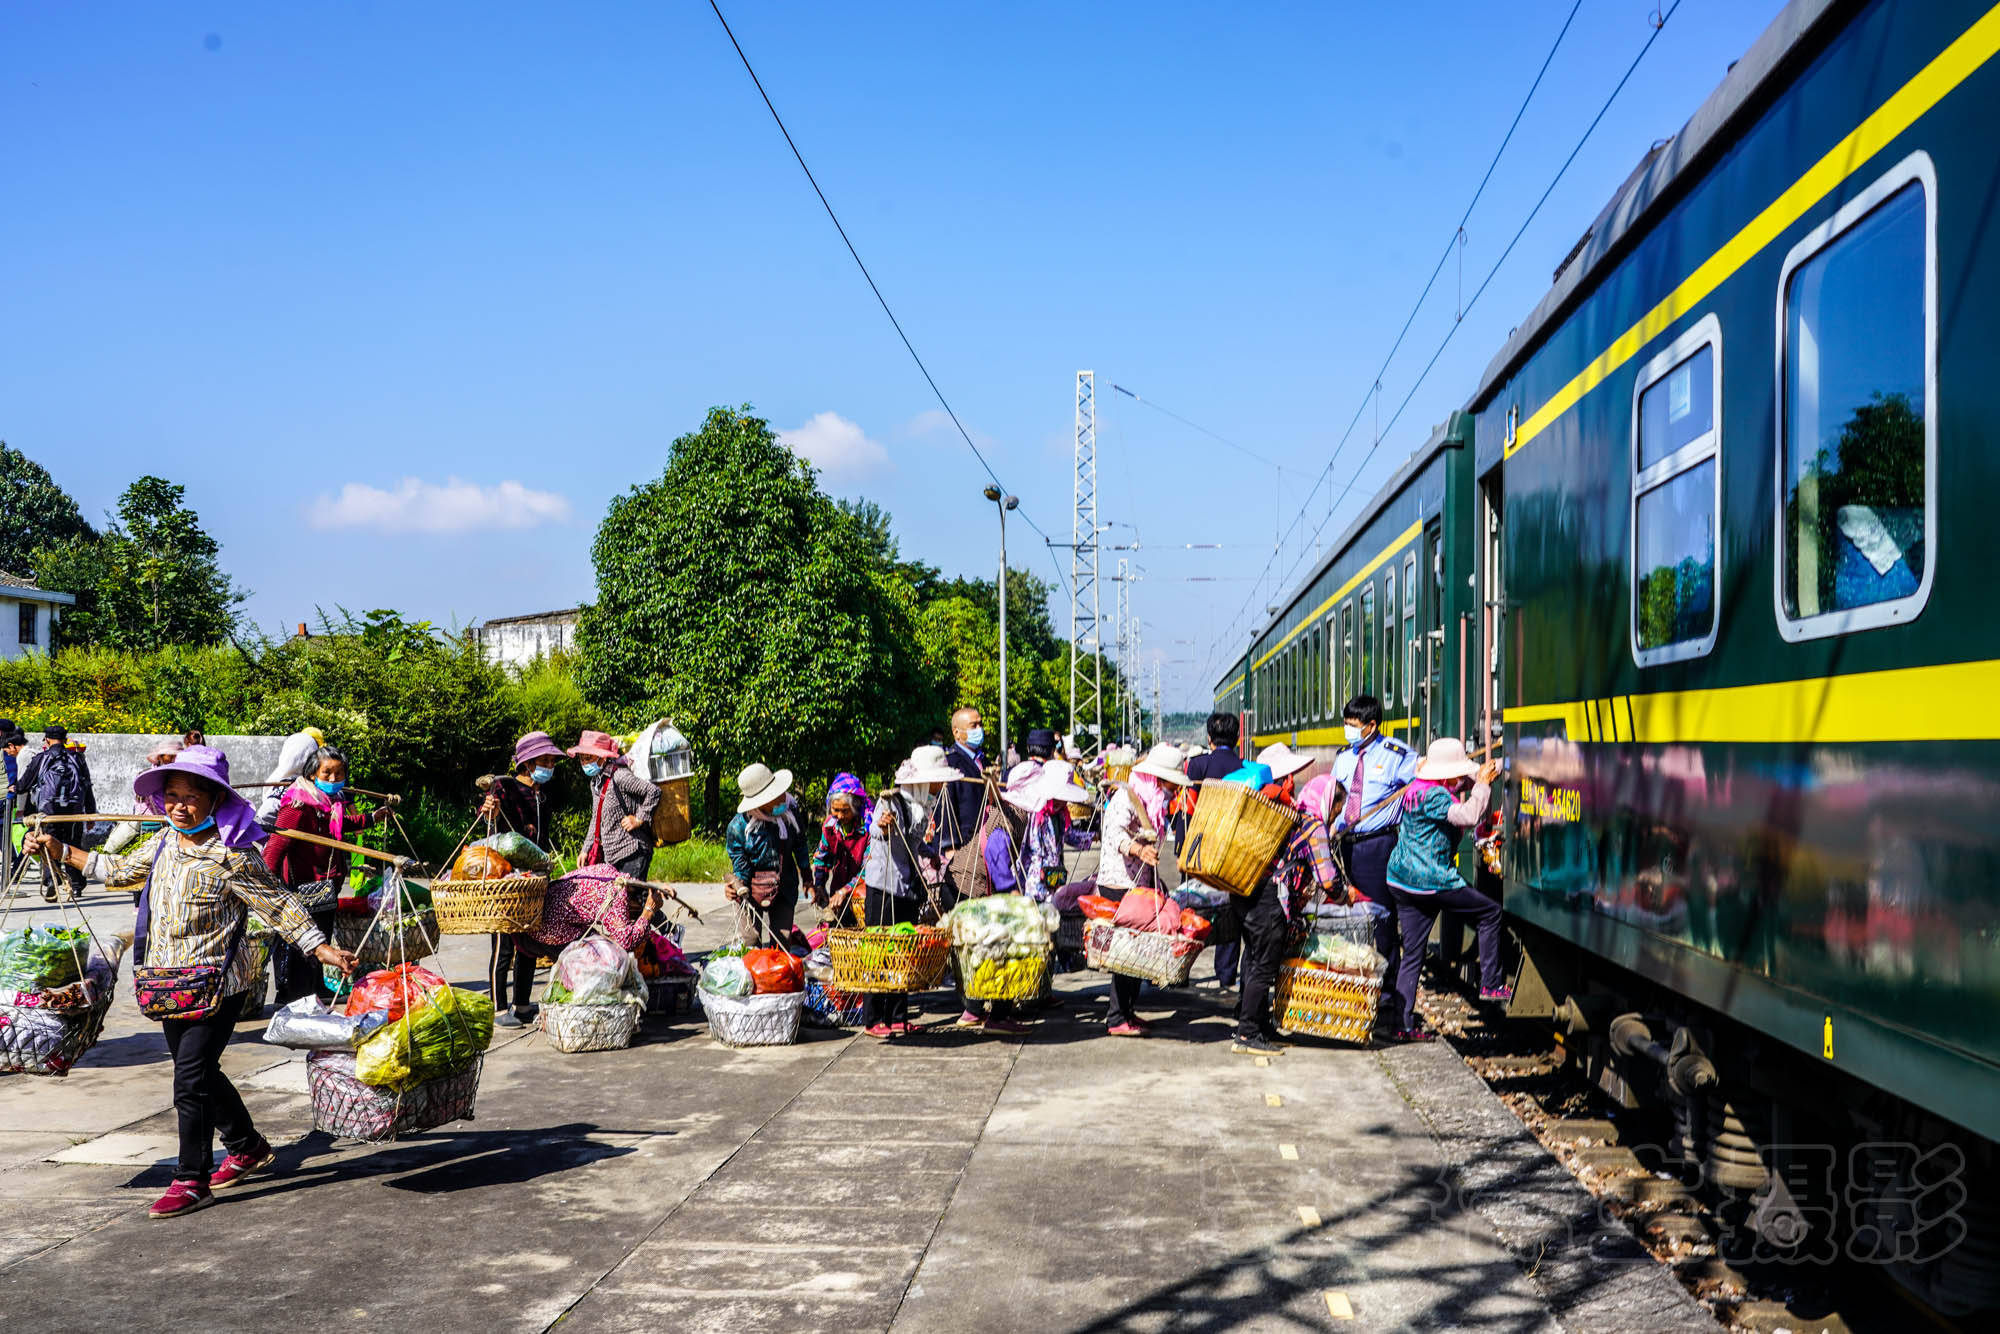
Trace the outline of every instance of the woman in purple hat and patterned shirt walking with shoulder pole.
<path fill-rule="evenodd" d="M 180 1160 L 174 1184 L 152 1218 L 180 1218 L 214 1202 L 216 1190 L 240 1186 L 272 1164 L 270 1142 L 258 1134 L 242 1096 L 222 1074 L 244 994 L 256 980 L 256 956 L 242 948 L 244 914 L 256 912 L 278 934 L 320 964 L 354 972 L 354 956 L 326 942 L 298 902 L 258 856 L 256 810 L 230 788 L 230 762 L 220 750 L 190 746 L 172 762 L 132 780 L 140 806 L 166 818 L 150 850 L 136 856 L 64 848 L 32 834 L 26 852 L 60 852 L 76 870 L 90 870 L 112 888 L 144 884 L 134 960 L 148 968 L 220 970 L 218 1000 L 198 1018 L 166 1018 L 166 1048 L 174 1054 L 174 1114 Z M 212 976 L 212 974 L 210 974 Z M 214 1166 L 214 1136 L 228 1156 Z"/>

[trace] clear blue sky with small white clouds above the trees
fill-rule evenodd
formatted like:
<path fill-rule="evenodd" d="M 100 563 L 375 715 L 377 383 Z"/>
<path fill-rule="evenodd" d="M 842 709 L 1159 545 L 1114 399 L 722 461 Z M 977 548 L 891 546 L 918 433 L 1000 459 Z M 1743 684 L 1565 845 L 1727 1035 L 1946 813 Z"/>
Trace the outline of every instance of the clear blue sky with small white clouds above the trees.
<path fill-rule="evenodd" d="M 1778 8 L 1684 0 L 1328 532 Z M 1280 502 L 1306 502 L 1568 10 L 724 6 L 1058 540 L 1072 378 L 1098 372 L 1100 514 L 1146 548 L 1134 610 L 1168 708 L 1206 702 L 1216 636 L 1270 600 L 1250 580 Z M 1652 10 L 1586 0 L 1468 224 L 1468 292 Z M 606 502 L 710 404 L 798 432 L 908 554 L 992 568 L 984 472 L 706 4 L 16 8 L 0 116 L 0 438 L 92 516 L 142 472 L 184 482 L 266 628 L 316 604 L 464 624 L 590 598 Z M 1384 418 L 1454 284 L 1384 376 Z M 1284 490 L 1112 382 L 1286 464 Z M 1052 576 L 1024 524 L 1010 540 Z"/>

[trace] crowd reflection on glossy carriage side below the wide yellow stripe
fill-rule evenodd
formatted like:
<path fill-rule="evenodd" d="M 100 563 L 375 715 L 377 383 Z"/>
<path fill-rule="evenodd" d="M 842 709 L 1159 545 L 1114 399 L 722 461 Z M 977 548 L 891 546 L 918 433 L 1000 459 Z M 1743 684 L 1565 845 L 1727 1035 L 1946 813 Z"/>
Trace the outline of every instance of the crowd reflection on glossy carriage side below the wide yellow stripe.
<path fill-rule="evenodd" d="M 1952 746 L 1940 766 L 1942 748 L 1922 746 L 1544 730 L 1516 742 L 1510 894 L 1944 1032 L 1976 1028 L 2000 998 L 2000 748 Z"/>

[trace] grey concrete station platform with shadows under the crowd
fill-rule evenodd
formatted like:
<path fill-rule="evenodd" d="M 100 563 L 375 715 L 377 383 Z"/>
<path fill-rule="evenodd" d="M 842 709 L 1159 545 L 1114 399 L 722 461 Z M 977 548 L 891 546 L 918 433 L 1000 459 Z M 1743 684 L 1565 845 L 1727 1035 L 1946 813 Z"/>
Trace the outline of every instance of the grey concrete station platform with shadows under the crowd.
<path fill-rule="evenodd" d="M 484 986 L 484 960 L 450 938 L 442 970 Z M 478 1118 L 390 1146 L 314 1134 L 300 1060 L 244 1024 L 226 1066 L 278 1168 L 162 1224 L 166 1050 L 126 994 L 70 1078 L 0 1078 L 0 1310 L 10 1334 L 1712 1328 L 1442 1044 L 1258 1066 L 1214 990 L 1148 992 L 1148 1040 L 1104 1036 L 1104 990 L 1062 978 L 1026 1038 L 728 1050 L 680 1018 L 562 1056 L 502 1030 Z"/>

